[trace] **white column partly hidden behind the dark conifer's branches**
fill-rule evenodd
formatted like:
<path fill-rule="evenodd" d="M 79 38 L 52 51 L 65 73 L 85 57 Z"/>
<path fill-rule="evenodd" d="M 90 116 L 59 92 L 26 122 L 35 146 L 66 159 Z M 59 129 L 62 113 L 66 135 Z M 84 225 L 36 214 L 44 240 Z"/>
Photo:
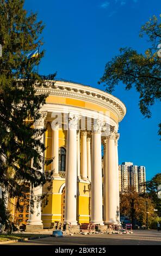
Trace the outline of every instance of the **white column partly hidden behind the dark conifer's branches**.
<path fill-rule="evenodd" d="M 46 118 L 47 113 L 42 113 L 41 118 L 39 120 L 36 120 L 34 123 L 35 129 L 44 129 L 44 121 Z M 44 143 L 44 135 L 41 136 L 41 138 L 38 138 L 41 140 L 41 143 Z M 43 153 L 41 153 L 41 156 L 43 157 Z M 43 172 L 43 163 L 41 163 L 41 170 L 39 170 L 41 173 Z M 42 229 L 42 221 L 41 221 L 41 202 L 40 197 L 42 196 L 42 186 L 33 187 L 31 199 L 34 200 L 33 207 L 29 207 L 29 219 L 28 219 L 28 227 L 33 226 L 33 229 L 40 228 Z M 32 211 L 30 211 L 32 210 Z"/>

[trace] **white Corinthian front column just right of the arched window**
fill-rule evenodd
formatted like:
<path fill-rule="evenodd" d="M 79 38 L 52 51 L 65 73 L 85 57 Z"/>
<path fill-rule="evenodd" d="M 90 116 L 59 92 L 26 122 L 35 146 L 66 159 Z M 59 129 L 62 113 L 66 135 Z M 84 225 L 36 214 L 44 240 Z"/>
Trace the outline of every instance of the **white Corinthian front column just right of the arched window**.
<path fill-rule="evenodd" d="M 69 114 L 65 175 L 65 223 L 77 225 L 77 123 L 78 117 Z"/>

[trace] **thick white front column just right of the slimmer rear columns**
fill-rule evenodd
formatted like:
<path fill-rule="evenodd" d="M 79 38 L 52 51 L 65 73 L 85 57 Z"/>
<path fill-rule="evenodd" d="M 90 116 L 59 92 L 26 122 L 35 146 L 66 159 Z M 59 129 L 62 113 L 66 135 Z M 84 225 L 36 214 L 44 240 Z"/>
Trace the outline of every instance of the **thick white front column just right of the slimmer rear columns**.
<path fill-rule="evenodd" d="M 96 120 L 92 131 L 91 155 L 91 223 L 103 225 L 102 220 L 102 155 L 101 123 Z"/>

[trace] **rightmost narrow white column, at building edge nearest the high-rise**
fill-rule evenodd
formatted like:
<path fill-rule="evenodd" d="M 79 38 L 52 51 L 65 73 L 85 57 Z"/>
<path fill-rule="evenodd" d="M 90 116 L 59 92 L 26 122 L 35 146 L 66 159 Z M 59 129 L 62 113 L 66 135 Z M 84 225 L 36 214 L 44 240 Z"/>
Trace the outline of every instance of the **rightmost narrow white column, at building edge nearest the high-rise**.
<path fill-rule="evenodd" d="M 118 147 L 117 142 L 120 135 L 119 133 L 116 133 L 115 136 L 115 157 L 116 157 L 116 170 L 115 170 L 115 180 L 116 180 L 116 221 L 118 224 L 120 224 L 120 193 L 119 193 L 119 159 L 118 159 Z"/>

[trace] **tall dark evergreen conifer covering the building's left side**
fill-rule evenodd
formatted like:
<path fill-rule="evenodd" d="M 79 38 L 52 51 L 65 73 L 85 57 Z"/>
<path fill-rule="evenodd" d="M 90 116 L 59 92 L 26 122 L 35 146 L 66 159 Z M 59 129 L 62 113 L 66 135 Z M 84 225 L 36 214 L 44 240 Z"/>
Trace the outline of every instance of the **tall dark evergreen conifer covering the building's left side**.
<path fill-rule="evenodd" d="M 45 146 L 35 139 L 35 134 L 41 136 L 45 130 L 33 126 L 47 97 L 36 95 L 34 87 L 35 83 L 45 84 L 45 77 L 42 79 L 35 68 L 44 51 L 38 57 L 27 57 L 43 44 L 40 36 L 44 25 L 36 21 L 36 14 L 28 14 L 23 5 L 23 0 L 0 3 L 0 185 L 9 197 L 23 195 L 23 181 L 38 186 L 49 179 L 40 172 Z M 5 205 L 4 196 L 0 200 Z M 7 224 L 5 206 L 1 209 L 0 222 Z"/>

